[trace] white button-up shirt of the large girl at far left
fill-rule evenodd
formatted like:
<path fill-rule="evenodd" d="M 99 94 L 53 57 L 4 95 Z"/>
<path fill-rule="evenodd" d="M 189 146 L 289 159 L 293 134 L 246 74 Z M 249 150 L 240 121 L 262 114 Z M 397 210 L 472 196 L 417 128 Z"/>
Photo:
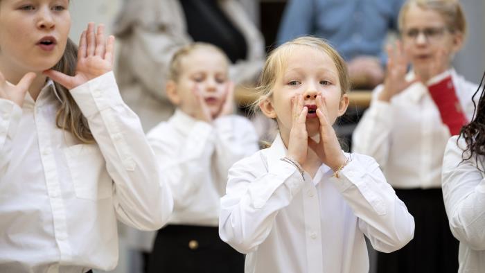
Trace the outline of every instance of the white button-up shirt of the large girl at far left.
<path fill-rule="evenodd" d="M 0 272 L 111 270 L 116 220 L 158 229 L 173 207 L 113 73 L 71 90 L 93 144 L 56 127 L 53 92 L 49 81 L 22 108 L 0 99 Z"/>

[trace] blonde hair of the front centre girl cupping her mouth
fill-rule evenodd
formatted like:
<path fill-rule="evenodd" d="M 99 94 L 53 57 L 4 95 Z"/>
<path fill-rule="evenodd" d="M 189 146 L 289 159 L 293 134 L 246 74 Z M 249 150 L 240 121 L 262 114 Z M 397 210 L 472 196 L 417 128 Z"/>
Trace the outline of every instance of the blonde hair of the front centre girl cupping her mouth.
<path fill-rule="evenodd" d="M 251 105 L 253 112 L 258 111 L 261 102 L 272 96 L 276 78 L 283 73 L 286 67 L 286 60 L 300 46 L 308 46 L 328 55 L 333 60 L 335 67 L 337 67 L 342 95 L 351 89 L 349 72 L 347 71 L 346 63 L 342 56 L 324 39 L 310 36 L 299 37 L 274 49 L 266 58 L 263 71 L 259 78 L 258 87 L 256 87 L 259 98 Z"/>

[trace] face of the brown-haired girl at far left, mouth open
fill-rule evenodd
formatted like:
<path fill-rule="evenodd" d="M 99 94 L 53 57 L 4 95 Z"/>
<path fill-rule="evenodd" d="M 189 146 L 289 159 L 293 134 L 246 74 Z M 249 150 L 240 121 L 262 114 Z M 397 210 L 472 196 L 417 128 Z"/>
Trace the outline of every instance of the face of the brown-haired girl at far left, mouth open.
<path fill-rule="evenodd" d="M 0 69 L 24 74 L 58 63 L 71 28 L 68 0 L 0 0 Z"/>

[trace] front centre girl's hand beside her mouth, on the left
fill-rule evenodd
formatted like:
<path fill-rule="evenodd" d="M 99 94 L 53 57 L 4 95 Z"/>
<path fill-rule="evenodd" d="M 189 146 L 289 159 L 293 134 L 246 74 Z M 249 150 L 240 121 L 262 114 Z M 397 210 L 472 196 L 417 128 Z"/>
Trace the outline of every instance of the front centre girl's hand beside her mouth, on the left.
<path fill-rule="evenodd" d="M 303 165 L 308 155 L 308 132 L 306 131 L 306 114 L 308 107 L 303 107 L 303 95 L 292 98 L 292 127 L 288 141 L 288 157 Z"/>

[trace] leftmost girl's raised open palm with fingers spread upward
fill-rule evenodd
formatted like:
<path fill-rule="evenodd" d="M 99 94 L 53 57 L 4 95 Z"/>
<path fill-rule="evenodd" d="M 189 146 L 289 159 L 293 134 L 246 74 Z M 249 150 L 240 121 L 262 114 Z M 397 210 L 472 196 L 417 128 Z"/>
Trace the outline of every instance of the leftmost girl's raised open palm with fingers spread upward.
<path fill-rule="evenodd" d="M 99 25 L 94 31 L 94 23 L 89 23 L 81 34 L 78 49 L 78 64 L 75 76 L 49 69 L 44 74 L 67 89 L 97 78 L 113 70 L 114 36 L 105 39 L 105 26 Z"/>

